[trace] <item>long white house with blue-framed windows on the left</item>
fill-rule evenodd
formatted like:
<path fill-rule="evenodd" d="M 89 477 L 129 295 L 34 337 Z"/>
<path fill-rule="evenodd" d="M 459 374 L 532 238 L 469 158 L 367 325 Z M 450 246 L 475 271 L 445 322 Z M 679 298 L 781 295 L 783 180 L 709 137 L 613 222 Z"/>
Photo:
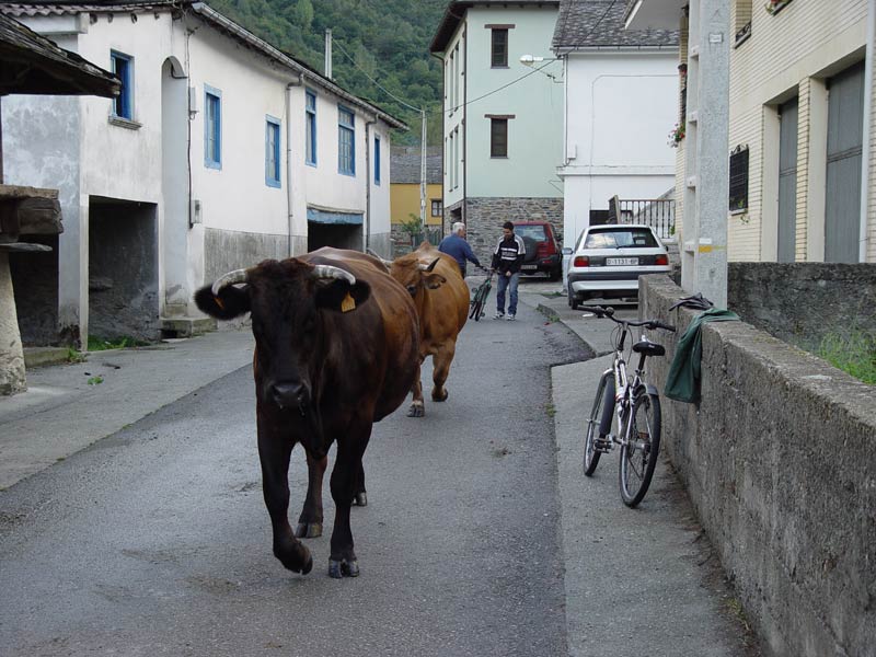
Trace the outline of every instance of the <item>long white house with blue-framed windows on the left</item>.
<path fill-rule="evenodd" d="M 21 318 L 25 344 L 185 333 L 226 270 L 326 244 L 389 254 L 397 119 L 200 2 L 0 11 L 124 87 L 3 100 L 7 180 L 58 188 L 65 226 L 57 280 L 15 281 L 57 291 Z"/>

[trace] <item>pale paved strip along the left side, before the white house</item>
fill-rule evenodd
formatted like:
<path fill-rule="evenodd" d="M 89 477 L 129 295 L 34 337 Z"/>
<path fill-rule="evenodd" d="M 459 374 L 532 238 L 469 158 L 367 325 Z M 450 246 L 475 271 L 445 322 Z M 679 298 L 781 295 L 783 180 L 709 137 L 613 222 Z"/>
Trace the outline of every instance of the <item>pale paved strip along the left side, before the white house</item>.
<path fill-rule="evenodd" d="M 30 369 L 26 392 L 0 397 L 0 491 L 252 362 L 253 344 L 217 331 Z"/>

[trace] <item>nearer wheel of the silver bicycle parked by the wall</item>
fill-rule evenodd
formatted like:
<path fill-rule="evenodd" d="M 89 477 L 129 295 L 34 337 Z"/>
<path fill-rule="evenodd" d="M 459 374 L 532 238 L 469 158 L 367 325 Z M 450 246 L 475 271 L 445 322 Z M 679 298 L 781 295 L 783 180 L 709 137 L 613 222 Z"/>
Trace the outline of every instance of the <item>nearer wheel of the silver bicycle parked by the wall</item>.
<path fill-rule="evenodd" d="M 660 452 L 660 397 L 639 392 L 633 400 L 621 443 L 621 498 L 635 507 L 648 492 Z"/>

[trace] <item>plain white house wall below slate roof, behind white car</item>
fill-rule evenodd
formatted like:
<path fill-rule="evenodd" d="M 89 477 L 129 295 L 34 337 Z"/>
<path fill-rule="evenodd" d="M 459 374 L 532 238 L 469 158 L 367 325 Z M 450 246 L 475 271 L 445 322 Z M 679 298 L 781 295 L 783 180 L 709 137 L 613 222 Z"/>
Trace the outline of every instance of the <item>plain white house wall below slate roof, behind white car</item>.
<path fill-rule="evenodd" d="M 566 61 L 564 241 L 609 198 L 657 198 L 675 183 L 678 54 L 572 54 Z"/>

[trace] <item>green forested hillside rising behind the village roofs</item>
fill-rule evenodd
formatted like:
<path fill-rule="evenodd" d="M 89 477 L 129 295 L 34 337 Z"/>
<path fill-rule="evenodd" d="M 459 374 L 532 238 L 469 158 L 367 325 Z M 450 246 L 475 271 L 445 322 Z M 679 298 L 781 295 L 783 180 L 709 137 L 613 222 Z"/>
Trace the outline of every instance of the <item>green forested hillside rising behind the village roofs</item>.
<path fill-rule="evenodd" d="M 429 43 L 447 0 L 209 0 L 208 3 L 320 72 L 324 68 L 325 30 L 331 28 L 335 81 L 405 120 L 411 131 L 396 135 L 396 142 L 419 142 L 419 116 L 378 89 L 362 71 L 411 105 L 440 112 L 441 62 L 429 55 Z M 440 142 L 440 113 L 430 115 L 430 142 Z"/>

